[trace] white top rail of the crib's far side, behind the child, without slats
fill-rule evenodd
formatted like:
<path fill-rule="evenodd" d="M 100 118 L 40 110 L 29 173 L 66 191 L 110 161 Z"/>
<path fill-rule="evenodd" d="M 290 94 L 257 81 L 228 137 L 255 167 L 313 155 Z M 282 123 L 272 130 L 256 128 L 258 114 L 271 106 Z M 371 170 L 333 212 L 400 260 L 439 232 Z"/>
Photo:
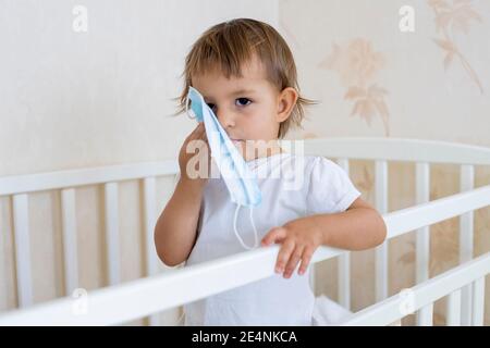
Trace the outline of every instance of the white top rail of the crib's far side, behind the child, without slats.
<path fill-rule="evenodd" d="M 304 149 L 306 154 L 328 158 L 490 165 L 488 148 L 421 139 L 363 137 L 307 139 Z M 0 177 L 0 196 L 170 175 L 177 172 L 179 162 L 167 160 L 4 176 Z"/>

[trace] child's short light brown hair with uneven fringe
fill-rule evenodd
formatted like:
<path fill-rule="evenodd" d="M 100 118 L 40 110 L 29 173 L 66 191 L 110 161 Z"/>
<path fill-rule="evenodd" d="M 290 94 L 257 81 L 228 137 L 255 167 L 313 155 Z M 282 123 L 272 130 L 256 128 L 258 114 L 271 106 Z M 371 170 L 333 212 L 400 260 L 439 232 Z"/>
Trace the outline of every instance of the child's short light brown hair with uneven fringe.
<path fill-rule="evenodd" d="M 291 115 L 279 126 L 278 138 L 283 138 L 292 125 L 302 127 L 305 117 L 304 108 L 316 101 L 303 98 L 297 84 L 296 64 L 287 44 L 269 24 L 250 20 L 236 18 L 217 24 L 207 29 L 193 45 L 185 59 L 184 89 L 179 101 L 179 111 L 185 111 L 188 87 L 192 76 L 209 69 L 219 69 L 226 78 L 242 77 L 242 66 L 249 62 L 254 54 L 266 67 L 267 79 L 279 91 L 293 87 L 298 98 Z"/>

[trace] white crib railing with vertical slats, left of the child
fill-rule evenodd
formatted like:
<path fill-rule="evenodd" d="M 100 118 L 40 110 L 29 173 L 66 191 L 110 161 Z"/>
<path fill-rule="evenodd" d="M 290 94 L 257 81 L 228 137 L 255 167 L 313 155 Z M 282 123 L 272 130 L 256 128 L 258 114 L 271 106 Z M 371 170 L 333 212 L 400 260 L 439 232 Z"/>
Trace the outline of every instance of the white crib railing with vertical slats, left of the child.
<path fill-rule="evenodd" d="M 169 160 L 0 177 L 0 196 L 12 196 L 13 201 L 19 307 L 33 304 L 28 194 L 61 189 L 64 287 L 66 295 L 70 295 L 78 288 L 75 188 L 103 185 L 109 284 L 115 285 L 121 281 L 118 183 L 128 179 L 143 181 L 146 275 L 154 275 L 158 273 L 159 262 L 154 247 L 156 177 L 177 173 L 179 163 Z M 158 324 L 156 316 L 149 320 L 150 324 Z"/>

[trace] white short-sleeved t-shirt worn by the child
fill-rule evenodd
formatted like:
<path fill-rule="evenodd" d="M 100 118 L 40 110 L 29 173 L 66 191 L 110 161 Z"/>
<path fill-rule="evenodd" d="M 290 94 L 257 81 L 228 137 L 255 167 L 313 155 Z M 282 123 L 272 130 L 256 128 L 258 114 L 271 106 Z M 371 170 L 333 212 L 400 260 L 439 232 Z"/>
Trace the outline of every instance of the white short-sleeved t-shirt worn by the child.
<path fill-rule="evenodd" d="M 247 164 L 262 195 L 253 211 L 259 241 L 272 227 L 291 220 L 345 211 L 360 196 L 345 171 L 322 157 L 277 153 Z M 235 209 L 223 179 L 210 178 L 187 265 L 245 251 L 233 231 Z M 254 229 L 247 207 L 241 207 L 236 226 L 244 243 L 252 246 Z M 275 274 L 187 303 L 185 325 L 311 325 L 315 296 L 308 271 L 297 275 L 296 269 L 287 279 Z"/>

